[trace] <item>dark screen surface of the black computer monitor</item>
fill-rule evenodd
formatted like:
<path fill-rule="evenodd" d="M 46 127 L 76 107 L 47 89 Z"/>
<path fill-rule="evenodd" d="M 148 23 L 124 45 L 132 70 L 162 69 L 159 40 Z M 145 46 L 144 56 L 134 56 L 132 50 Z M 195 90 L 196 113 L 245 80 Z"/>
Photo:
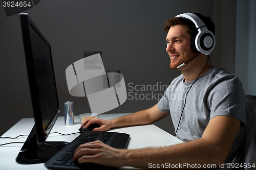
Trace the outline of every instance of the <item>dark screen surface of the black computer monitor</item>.
<path fill-rule="evenodd" d="M 48 125 L 59 109 L 51 60 L 51 47 L 31 24 L 29 30 L 34 59 L 35 78 L 39 93 L 38 99 L 41 110 L 42 127 L 48 134 Z"/>

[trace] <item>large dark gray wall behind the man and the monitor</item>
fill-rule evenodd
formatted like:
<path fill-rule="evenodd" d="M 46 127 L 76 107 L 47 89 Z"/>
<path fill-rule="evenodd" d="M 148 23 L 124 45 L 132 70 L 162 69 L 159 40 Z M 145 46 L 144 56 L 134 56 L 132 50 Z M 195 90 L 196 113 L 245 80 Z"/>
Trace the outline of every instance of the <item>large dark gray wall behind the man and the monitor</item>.
<path fill-rule="evenodd" d="M 226 4 L 234 5 L 236 9 L 236 1 L 222 2 L 225 3 L 210 0 L 44 0 L 26 11 L 51 43 L 61 116 L 65 101 L 74 102 L 75 115 L 90 112 L 86 98 L 69 94 L 65 76 L 66 68 L 83 58 L 84 51 L 102 51 L 105 69 L 121 70 L 127 92 L 132 90 L 129 83 L 133 86 L 168 85 L 180 75 L 180 71 L 169 68 L 164 21 L 180 13 L 199 12 L 214 19 L 217 31 L 230 29 L 231 33 L 227 31 L 224 34 L 231 35 L 235 27 L 222 20 L 221 16 L 228 15 L 231 22 L 236 23 L 230 16 L 232 14 L 225 12 Z M 216 35 L 218 45 L 211 55 L 211 62 L 227 66 L 233 72 L 234 63 L 227 64 L 220 55 L 223 52 L 232 54 L 233 51 L 232 42 L 225 50 L 221 48 L 222 34 Z M 33 117 L 19 15 L 6 17 L 3 7 L 0 7 L 0 43 L 2 135 L 21 118 Z M 232 55 L 229 57 L 233 59 Z M 132 92 L 152 93 L 150 90 Z M 153 90 L 156 96 L 163 92 Z M 131 98 L 128 96 L 123 105 L 108 113 L 135 112 L 152 107 L 158 101 Z M 169 133 L 174 131 L 169 116 L 155 124 Z"/>

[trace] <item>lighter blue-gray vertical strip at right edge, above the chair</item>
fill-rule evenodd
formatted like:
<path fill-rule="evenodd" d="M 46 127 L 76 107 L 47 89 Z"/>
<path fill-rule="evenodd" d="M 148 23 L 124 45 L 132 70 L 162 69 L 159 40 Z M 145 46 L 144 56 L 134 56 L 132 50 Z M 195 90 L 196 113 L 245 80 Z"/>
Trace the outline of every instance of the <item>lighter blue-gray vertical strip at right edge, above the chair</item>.
<path fill-rule="evenodd" d="M 256 95 L 256 1 L 237 1 L 236 75 L 245 94 Z"/>

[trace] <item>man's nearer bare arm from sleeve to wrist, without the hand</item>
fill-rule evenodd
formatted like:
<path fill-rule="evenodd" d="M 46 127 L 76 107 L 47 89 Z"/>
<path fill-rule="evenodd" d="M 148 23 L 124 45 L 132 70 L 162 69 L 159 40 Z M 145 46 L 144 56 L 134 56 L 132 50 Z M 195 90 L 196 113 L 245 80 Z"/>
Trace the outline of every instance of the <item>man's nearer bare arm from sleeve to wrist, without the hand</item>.
<path fill-rule="evenodd" d="M 124 166 L 147 167 L 152 164 L 222 165 L 240 128 L 240 120 L 216 116 L 207 125 L 202 138 L 166 148 L 126 150 Z M 122 157 L 122 156 L 121 156 Z"/>

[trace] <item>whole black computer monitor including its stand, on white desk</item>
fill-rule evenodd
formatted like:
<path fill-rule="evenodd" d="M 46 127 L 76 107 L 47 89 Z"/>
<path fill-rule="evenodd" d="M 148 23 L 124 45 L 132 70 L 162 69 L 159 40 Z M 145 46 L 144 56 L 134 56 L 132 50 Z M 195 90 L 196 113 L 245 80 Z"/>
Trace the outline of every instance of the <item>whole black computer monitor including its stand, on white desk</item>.
<path fill-rule="evenodd" d="M 60 113 L 51 45 L 27 13 L 20 13 L 20 21 L 35 125 L 16 161 L 43 163 L 66 146 L 65 142 L 46 142 Z"/>

